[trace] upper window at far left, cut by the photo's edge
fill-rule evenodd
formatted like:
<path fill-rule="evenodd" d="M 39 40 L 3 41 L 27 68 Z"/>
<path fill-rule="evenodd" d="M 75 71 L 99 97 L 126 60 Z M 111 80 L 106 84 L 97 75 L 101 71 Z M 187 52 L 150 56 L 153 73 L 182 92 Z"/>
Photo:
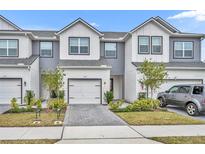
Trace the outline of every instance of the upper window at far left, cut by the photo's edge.
<path fill-rule="evenodd" d="M 18 40 L 0 40 L 1 57 L 18 56 Z"/>

